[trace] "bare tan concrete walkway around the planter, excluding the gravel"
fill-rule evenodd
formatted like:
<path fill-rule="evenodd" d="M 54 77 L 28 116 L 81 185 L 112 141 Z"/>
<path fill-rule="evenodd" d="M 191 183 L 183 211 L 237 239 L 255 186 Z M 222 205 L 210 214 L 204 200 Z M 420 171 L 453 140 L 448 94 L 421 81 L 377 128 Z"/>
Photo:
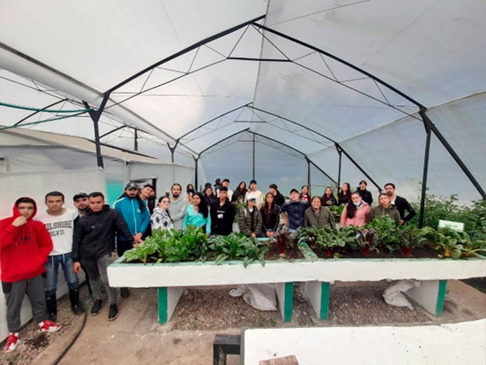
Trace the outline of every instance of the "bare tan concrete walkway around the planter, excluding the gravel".
<path fill-rule="evenodd" d="M 88 317 L 85 329 L 61 364 L 212 364 L 214 334 L 241 333 L 240 328 L 171 331 L 170 323 L 164 326 L 157 323 L 155 289 L 130 290 L 130 294 L 128 299 L 119 298 L 120 315 L 117 320 L 108 321 L 107 305 L 98 316 Z M 429 324 L 481 318 L 486 318 L 486 295 L 460 281 L 451 280 L 444 314 L 441 318 L 430 317 Z M 319 325 L 318 321 L 316 323 Z M 81 319 L 33 364 L 51 364 L 80 324 Z M 324 326 L 333 324 L 326 323 Z M 463 348 L 463 351 L 467 352 L 468 348 Z M 228 365 L 239 364 L 238 356 L 230 356 L 228 360 Z"/>

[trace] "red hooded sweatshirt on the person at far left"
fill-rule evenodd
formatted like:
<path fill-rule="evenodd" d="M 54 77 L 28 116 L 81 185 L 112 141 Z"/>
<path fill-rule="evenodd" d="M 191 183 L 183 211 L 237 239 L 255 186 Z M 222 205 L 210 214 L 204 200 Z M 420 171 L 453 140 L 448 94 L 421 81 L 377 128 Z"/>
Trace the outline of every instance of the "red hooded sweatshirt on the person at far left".
<path fill-rule="evenodd" d="M 30 279 L 46 271 L 44 264 L 53 248 L 52 239 L 42 222 L 32 220 L 35 213 L 37 205 L 34 203 L 34 212 L 27 223 L 15 227 L 12 222 L 20 216 L 15 204 L 13 216 L 0 220 L 0 264 L 3 282 Z"/>

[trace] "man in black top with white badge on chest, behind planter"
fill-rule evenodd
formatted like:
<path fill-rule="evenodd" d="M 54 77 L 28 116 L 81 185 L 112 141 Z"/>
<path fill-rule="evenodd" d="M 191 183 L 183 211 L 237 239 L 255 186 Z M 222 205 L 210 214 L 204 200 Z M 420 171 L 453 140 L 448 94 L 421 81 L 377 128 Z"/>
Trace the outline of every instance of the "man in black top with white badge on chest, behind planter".
<path fill-rule="evenodd" d="M 228 199 L 228 188 L 219 188 L 219 198 L 211 203 L 211 233 L 227 236 L 233 232 L 233 222 L 236 210 L 233 203 Z"/>

